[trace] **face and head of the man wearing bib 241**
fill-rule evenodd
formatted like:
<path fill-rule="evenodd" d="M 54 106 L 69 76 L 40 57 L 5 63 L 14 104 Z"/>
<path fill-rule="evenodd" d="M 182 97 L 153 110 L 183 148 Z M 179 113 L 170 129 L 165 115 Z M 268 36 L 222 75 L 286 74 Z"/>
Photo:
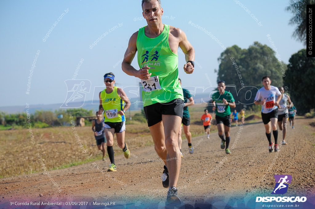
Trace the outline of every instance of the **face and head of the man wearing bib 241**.
<path fill-rule="evenodd" d="M 162 20 L 163 8 L 160 8 L 157 0 L 143 3 L 142 9 L 142 15 L 146 19 L 148 25 L 157 26 Z"/>

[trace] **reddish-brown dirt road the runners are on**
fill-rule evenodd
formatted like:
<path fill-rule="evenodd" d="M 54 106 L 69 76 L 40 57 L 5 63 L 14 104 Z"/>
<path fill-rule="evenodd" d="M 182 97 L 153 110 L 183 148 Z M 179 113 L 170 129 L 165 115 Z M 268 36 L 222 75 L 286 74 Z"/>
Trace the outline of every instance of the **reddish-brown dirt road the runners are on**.
<path fill-rule="evenodd" d="M 210 139 L 206 136 L 193 138 L 195 151 L 192 155 L 186 149 L 187 140 L 183 140 L 185 155 L 178 181 L 179 196 L 192 206 L 190 208 L 196 202 L 210 199 L 221 198 L 221 201 L 227 202 L 228 198 L 238 196 L 270 196 L 275 185 L 275 174 L 292 176 L 286 196 L 315 196 L 315 128 L 309 125 L 311 121 L 313 119 L 297 119 L 295 129 L 288 127 L 288 145 L 281 146 L 278 157 L 276 153 L 268 151 L 261 121 L 245 123 L 243 130 L 240 126 L 231 128 L 231 155 L 226 155 L 220 149 L 217 133 L 210 134 Z M 235 141 L 239 130 L 239 140 Z M 282 132 L 279 131 L 278 142 L 281 141 Z M 61 192 L 43 173 L 1 179 L 0 208 L 15 208 L 9 206 L 8 202 L 26 200 L 84 201 L 91 205 L 79 208 L 104 208 L 93 206 L 93 201 L 115 202 L 115 208 L 161 208 L 167 194 L 160 179 L 163 162 L 158 161 L 153 146 L 131 150 L 131 154 L 129 159 L 125 159 L 123 154 L 115 157 L 117 172 L 98 170 L 97 167 L 106 171 L 109 160 L 49 171 Z M 268 167 L 271 169 L 268 170 Z"/>

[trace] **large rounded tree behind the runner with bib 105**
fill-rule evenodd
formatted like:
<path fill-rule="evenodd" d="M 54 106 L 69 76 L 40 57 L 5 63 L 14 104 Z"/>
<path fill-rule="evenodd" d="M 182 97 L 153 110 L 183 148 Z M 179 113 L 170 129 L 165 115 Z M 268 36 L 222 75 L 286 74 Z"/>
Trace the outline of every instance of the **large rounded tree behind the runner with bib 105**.
<path fill-rule="evenodd" d="M 273 86 L 283 85 L 281 69 L 286 69 L 286 65 L 276 58 L 275 52 L 267 45 L 254 42 L 248 49 L 241 49 L 234 45 L 226 48 L 218 60 L 220 65 L 219 70 L 216 71 L 218 73 L 217 81 L 223 80 L 226 85 L 235 85 L 238 95 L 235 90 L 231 93 L 234 99 L 238 99 L 241 103 L 245 101 L 245 94 L 246 99 L 249 99 L 250 93 L 246 93 L 248 90 L 251 91 L 251 97 L 246 103 L 254 103 L 257 88 L 262 87 L 261 78 L 265 75 L 271 77 Z M 283 68 L 281 68 L 280 61 Z M 246 90 L 240 91 L 245 87 Z M 232 88 L 230 89 L 232 90 Z M 242 107 L 237 105 L 236 108 L 239 111 Z"/>

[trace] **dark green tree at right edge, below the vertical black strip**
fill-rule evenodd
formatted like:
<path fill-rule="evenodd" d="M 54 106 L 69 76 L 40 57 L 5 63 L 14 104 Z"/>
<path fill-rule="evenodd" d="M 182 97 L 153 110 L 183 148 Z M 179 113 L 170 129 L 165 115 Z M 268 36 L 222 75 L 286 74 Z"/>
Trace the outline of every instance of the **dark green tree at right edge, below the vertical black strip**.
<path fill-rule="evenodd" d="M 292 102 L 298 113 L 304 114 L 314 108 L 315 58 L 306 57 L 306 49 L 301 49 L 289 59 L 288 70 L 283 78 L 289 88 Z"/>

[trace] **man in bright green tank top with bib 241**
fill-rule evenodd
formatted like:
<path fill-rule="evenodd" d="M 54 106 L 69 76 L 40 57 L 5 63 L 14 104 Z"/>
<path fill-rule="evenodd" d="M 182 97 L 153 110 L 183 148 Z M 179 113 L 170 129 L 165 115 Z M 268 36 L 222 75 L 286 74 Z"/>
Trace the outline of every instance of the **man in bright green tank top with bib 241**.
<path fill-rule="evenodd" d="M 180 47 L 186 55 L 184 71 L 194 71 L 195 51 L 186 34 L 179 28 L 162 23 L 160 0 L 142 0 L 142 15 L 147 26 L 140 28 L 129 39 L 122 69 L 141 79 L 142 100 L 146 119 L 157 155 L 164 161 L 163 187 L 168 188 L 167 203 L 181 203 L 177 196 L 180 172 L 178 133 L 183 116 L 183 91 L 178 82 L 178 55 Z M 131 62 L 138 51 L 138 65 Z"/>

